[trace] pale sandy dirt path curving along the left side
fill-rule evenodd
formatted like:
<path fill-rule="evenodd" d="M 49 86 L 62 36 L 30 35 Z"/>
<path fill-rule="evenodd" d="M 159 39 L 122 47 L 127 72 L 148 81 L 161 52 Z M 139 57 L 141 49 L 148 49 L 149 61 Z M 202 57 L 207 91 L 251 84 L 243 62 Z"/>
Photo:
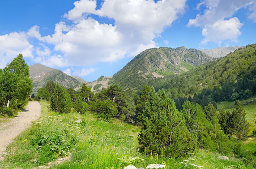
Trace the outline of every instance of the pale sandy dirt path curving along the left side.
<path fill-rule="evenodd" d="M 41 105 L 37 101 L 28 103 L 23 112 L 18 117 L 10 119 L 7 123 L 0 123 L 0 161 L 3 160 L 2 155 L 5 154 L 6 146 L 27 128 L 32 121 L 40 117 Z"/>

